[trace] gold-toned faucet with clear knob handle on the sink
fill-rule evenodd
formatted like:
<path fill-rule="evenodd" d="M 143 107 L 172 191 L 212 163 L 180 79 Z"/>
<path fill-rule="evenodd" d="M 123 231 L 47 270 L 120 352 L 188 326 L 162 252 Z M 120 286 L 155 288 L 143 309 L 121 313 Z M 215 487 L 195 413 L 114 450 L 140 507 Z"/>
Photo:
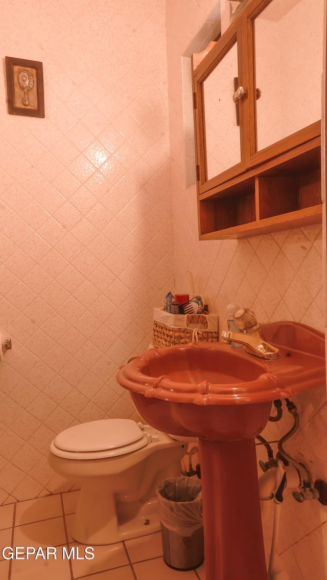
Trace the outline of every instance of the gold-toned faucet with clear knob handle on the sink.
<path fill-rule="evenodd" d="M 279 350 L 264 339 L 261 326 L 251 310 L 248 308 L 237 310 L 234 314 L 234 322 L 240 332 L 221 332 L 224 343 L 230 345 L 232 342 L 237 342 L 244 346 L 246 353 L 259 358 L 281 358 Z"/>

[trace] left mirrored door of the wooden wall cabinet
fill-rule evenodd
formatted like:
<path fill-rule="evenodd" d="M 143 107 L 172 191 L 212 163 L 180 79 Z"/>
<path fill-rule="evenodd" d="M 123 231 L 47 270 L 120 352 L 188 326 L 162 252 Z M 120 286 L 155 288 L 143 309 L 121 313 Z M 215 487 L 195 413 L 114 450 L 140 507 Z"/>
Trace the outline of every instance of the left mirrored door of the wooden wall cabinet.
<path fill-rule="evenodd" d="M 241 60 L 240 22 L 228 28 L 193 77 L 198 190 L 204 193 L 246 168 L 248 81 Z M 244 98 L 234 102 L 237 85 Z"/>

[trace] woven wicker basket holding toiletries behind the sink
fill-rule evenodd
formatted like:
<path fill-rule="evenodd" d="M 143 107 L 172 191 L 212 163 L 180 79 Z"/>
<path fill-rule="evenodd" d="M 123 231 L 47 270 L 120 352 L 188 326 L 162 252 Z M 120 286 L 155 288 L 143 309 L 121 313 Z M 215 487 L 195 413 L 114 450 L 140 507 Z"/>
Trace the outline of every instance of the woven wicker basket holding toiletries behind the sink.
<path fill-rule="evenodd" d="M 192 342 L 194 330 L 197 330 L 196 339 L 199 342 L 217 342 L 218 340 L 218 317 L 215 321 L 210 320 L 209 326 L 216 326 L 217 330 L 208 330 L 208 318 L 212 315 L 206 314 L 186 314 L 184 327 L 175 327 L 158 320 L 153 321 L 152 344 L 156 349 L 163 346 L 186 345 Z M 173 317 L 173 314 L 170 315 Z M 176 318 L 181 318 L 179 315 Z"/>

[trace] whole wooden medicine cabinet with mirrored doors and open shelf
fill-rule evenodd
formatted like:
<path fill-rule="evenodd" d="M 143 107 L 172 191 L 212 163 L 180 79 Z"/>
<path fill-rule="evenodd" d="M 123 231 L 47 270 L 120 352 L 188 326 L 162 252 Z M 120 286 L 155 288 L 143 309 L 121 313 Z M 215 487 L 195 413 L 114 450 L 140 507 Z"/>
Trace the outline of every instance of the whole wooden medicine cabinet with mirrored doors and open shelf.
<path fill-rule="evenodd" d="M 308 5 L 249 0 L 192 59 L 202 240 L 321 221 L 324 0 Z"/>

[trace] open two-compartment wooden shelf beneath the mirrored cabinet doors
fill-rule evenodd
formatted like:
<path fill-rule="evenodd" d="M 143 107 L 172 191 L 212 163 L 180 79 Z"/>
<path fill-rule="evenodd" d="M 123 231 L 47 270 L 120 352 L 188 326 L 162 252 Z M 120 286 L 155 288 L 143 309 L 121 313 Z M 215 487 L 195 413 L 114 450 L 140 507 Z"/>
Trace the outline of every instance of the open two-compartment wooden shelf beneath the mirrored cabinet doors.
<path fill-rule="evenodd" d="M 201 240 L 238 238 L 322 219 L 320 137 L 198 196 Z"/>

